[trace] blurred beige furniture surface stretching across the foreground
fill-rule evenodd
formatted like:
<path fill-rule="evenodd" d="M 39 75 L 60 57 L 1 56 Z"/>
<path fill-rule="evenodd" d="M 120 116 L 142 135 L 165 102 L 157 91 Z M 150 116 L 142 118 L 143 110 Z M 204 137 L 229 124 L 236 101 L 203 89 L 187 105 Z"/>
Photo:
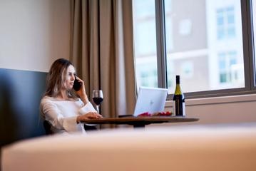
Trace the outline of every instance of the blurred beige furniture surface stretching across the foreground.
<path fill-rule="evenodd" d="M 104 130 L 23 140 L 2 150 L 13 170 L 256 170 L 256 123 Z"/>

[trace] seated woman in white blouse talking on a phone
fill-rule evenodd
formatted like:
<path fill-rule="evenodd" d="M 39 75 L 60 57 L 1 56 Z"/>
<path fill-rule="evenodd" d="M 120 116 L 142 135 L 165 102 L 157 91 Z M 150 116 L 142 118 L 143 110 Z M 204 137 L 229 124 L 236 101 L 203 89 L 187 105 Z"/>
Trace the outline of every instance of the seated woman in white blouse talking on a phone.
<path fill-rule="evenodd" d="M 73 90 L 75 79 L 81 84 L 76 92 Z M 85 133 L 81 121 L 102 118 L 88 100 L 84 83 L 76 76 L 73 64 L 63 58 L 54 61 L 48 72 L 40 109 L 52 133 Z"/>

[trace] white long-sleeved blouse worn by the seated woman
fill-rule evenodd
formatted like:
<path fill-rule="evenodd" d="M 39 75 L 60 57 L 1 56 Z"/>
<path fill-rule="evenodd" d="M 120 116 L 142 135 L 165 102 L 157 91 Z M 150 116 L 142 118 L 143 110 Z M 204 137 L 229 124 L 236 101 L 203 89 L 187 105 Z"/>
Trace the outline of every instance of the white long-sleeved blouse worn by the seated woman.
<path fill-rule="evenodd" d="M 88 102 L 86 105 L 80 98 L 76 100 L 58 100 L 44 96 L 40 104 L 41 115 L 51 123 L 53 133 L 86 133 L 83 123 L 76 123 L 78 115 L 89 112 L 96 112 L 93 105 Z"/>

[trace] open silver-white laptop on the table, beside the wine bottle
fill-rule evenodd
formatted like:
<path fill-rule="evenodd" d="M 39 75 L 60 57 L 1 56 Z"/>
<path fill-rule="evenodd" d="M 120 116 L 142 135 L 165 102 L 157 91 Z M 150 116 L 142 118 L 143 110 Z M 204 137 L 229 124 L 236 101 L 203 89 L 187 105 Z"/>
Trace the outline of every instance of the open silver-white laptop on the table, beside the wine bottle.
<path fill-rule="evenodd" d="M 133 115 L 119 115 L 119 117 L 138 116 L 147 112 L 163 112 L 167 95 L 168 89 L 166 88 L 140 87 Z"/>

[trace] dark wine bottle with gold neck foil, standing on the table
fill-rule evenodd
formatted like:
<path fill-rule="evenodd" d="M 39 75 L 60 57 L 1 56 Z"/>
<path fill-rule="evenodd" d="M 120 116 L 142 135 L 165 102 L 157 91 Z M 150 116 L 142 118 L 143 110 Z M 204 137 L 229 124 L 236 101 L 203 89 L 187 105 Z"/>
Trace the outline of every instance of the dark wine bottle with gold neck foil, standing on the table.
<path fill-rule="evenodd" d="M 180 88 L 180 76 L 176 76 L 176 88 L 173 94 L 173 113 L 176 116 L 185 116 L 185 96 Z"/>

